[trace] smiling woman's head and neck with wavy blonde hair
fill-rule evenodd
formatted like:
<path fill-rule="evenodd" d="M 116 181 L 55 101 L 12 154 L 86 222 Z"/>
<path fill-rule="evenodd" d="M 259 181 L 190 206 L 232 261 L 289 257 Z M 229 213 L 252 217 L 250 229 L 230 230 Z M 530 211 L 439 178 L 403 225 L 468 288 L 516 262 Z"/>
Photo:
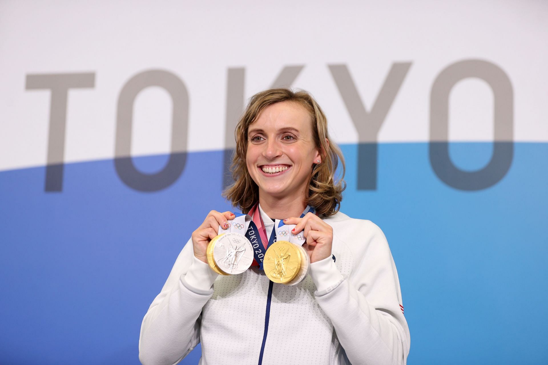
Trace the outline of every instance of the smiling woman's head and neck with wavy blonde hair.
<path fill-rule="evenodd" d="M 344 176 L 344 159 L 329 140 L 326 116 L 310 94 L 288 89 L 259 92 L 250 100 L 235 136 L 235 183 L 225 195 L 243 212 L 258 200 L 261 207 L 272 205 L 282 216 L 290 213 L 287 206 L 295 201 L 324 216 L 339 210 L 345 184 L 335 182 L 335 173 L 341 161 Z M 296 209 L 293 216 L 301 212 Z"/>

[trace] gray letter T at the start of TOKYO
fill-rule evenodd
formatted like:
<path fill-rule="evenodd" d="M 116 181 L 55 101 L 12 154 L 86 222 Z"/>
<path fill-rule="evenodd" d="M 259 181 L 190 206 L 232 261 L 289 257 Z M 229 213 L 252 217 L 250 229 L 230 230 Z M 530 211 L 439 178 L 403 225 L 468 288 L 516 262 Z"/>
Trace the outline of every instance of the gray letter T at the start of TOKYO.
<path fill-rule="evenodd" d="M 49 107 L 48 157 L 45 167 L 45 192 L 63 189 L 63 160 L 68 89 L 93 88 L 95 73 L 31 74 L 26 78 L 27 90 L 51 90 Z"/>

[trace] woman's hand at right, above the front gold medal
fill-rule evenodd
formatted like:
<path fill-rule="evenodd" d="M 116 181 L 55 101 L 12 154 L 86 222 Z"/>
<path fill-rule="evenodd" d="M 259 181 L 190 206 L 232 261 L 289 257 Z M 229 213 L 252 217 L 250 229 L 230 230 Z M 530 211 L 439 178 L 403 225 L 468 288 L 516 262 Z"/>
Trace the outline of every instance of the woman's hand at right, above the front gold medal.
<path fill-rule="evenodd" d="M 311 263 L 331 256 L 333 228 L 318 216 L 309 212 L 302 218 L 287 218 L 283 223 L 296 224 L 293 234 L 304 230 L 306 243 L 302 245 L 302 248 L 308 253 Z"/>

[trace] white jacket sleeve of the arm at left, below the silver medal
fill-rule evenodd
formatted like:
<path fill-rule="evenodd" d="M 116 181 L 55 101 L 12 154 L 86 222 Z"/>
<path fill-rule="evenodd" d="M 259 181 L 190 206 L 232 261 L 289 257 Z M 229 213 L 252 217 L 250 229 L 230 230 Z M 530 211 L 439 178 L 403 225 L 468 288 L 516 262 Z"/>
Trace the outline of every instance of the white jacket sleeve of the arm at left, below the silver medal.
<path fill-rule="evenodd" d="M 143 365 L 176 364 L 196 347 L 202 308 L 213 295 L 217 276 L 195 258 L 189 240 L 142 320 L 139 360 Z"/>

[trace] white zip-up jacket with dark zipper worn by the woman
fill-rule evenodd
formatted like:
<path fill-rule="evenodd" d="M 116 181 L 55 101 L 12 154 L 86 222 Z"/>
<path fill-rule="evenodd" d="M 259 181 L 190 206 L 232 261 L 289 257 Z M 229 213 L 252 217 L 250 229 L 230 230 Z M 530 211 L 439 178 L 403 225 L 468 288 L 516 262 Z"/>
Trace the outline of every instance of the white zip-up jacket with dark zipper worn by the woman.
<path fill-rule="evenodd" d="M 406 364 L 409 329 L 383 232 L 340 212 L 323 221 L 335 260 L 311 264 L 295 286 L 271 283 L 256 266 L 215 274 L 189 240 L 142 320 L 141 363 L 176 364 L 201 342 L 200 365 L 256 365 L 261 347 L 264 365 Z"/>

